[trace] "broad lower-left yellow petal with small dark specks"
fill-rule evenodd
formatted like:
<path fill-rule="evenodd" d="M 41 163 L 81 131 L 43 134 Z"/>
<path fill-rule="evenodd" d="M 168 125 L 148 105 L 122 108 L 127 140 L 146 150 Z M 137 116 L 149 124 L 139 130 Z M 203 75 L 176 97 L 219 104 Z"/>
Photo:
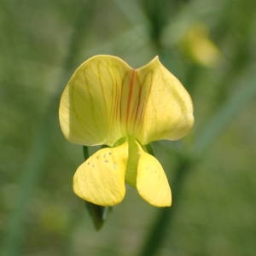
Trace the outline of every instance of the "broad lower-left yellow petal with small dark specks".
<path fill-rule="evenodd" d="M 96 205 L 118 204 L 125 196 L 127 158 L 127 143 L 92 154 L 74 174 L 74 193 Z"/>

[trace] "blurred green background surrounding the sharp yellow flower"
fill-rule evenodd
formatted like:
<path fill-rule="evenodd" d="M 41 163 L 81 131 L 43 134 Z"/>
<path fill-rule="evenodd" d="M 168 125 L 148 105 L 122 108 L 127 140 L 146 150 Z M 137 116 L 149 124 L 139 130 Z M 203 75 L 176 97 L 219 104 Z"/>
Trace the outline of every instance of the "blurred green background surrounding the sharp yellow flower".
<path fill-rule="evenodd" d="M 0 1 L 0 254 L 256 253 L 254 0 Z M 61 90 L 79 64 L 154 55 L 183 81 L 195 128 L 153 143 L 172 186 L 159 209 L 128 188 L 101 231 L 72 191 L 82 148 L 61 134 Z"/>

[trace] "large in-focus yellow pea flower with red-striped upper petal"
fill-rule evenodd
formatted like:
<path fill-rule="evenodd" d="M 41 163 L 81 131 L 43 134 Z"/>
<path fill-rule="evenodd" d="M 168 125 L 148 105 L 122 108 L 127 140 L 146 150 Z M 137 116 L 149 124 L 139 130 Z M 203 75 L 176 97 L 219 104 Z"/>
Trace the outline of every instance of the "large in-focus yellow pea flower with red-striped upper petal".
<path fill-rule="evenodd" d="M 126 182 L 149 204 L 171 206 L 166 174 L 145 145 L 185 136 L 194 117 L 188 92 L 158 57 L 137 69 L 112 55 L 84 61 L 61 95 L 59 116 L 71 143 L 108 145 L 75 172 L 76 195 L 113 206 L 124 199 Z"/>

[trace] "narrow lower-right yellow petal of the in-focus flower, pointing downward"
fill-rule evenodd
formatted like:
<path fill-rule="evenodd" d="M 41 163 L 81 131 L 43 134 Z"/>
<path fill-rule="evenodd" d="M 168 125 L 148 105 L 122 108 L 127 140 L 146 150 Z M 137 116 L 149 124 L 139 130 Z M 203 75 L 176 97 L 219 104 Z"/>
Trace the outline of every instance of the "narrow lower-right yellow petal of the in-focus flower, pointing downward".
<path fill-rule="evenodd" d="M 140 148 L 137 165 L 139 195 L 154 207 L 170 207 L 172 194 L 165 171 L 153 155 L 138 147 Z"/>

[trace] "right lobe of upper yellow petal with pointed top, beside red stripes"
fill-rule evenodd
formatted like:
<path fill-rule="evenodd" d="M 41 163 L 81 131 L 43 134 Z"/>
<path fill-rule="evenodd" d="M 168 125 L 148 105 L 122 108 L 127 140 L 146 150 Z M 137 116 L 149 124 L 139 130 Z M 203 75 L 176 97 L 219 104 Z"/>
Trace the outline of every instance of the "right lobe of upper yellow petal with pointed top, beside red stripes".
<path fill-rule="evenodd" d="M 189 93 L 164 67 L 158 57 L 137 69 L 137 83 L 143 84 L 141 114 L 137 119 L 137 139 L 143 145 L 155 140 L 177 140 L 194 123 Z"/>

